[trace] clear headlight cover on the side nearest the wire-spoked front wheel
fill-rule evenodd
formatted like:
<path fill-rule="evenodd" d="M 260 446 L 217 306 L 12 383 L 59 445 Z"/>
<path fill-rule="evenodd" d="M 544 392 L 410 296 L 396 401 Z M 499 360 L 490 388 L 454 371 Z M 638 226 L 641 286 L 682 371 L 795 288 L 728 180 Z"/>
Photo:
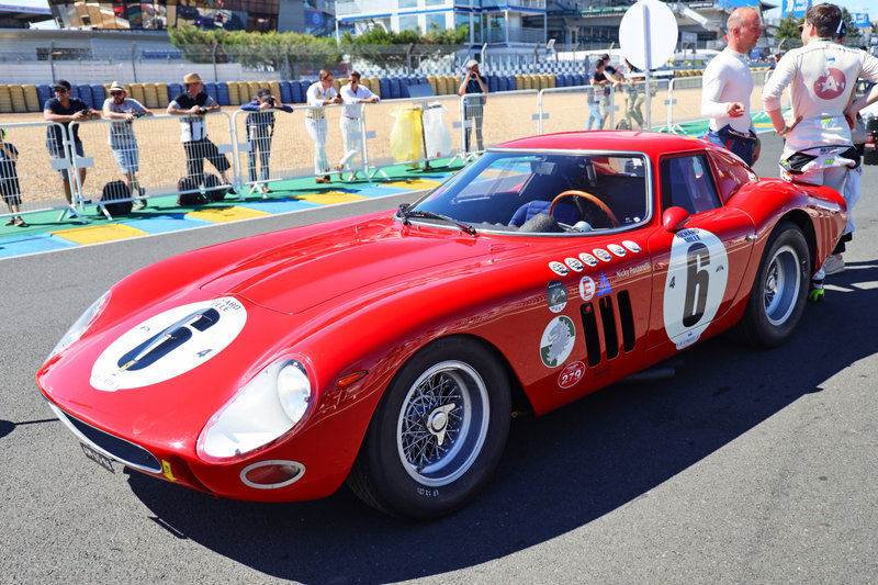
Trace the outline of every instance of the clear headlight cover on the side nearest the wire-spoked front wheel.
<path fill-rule="evenodd" d="M 291 359 L 275 361 L 211 418 L 199 437 L 199 457 L 230 459 L 264 447 L 302 420 L 309 403 L 305 367 Z"/>

